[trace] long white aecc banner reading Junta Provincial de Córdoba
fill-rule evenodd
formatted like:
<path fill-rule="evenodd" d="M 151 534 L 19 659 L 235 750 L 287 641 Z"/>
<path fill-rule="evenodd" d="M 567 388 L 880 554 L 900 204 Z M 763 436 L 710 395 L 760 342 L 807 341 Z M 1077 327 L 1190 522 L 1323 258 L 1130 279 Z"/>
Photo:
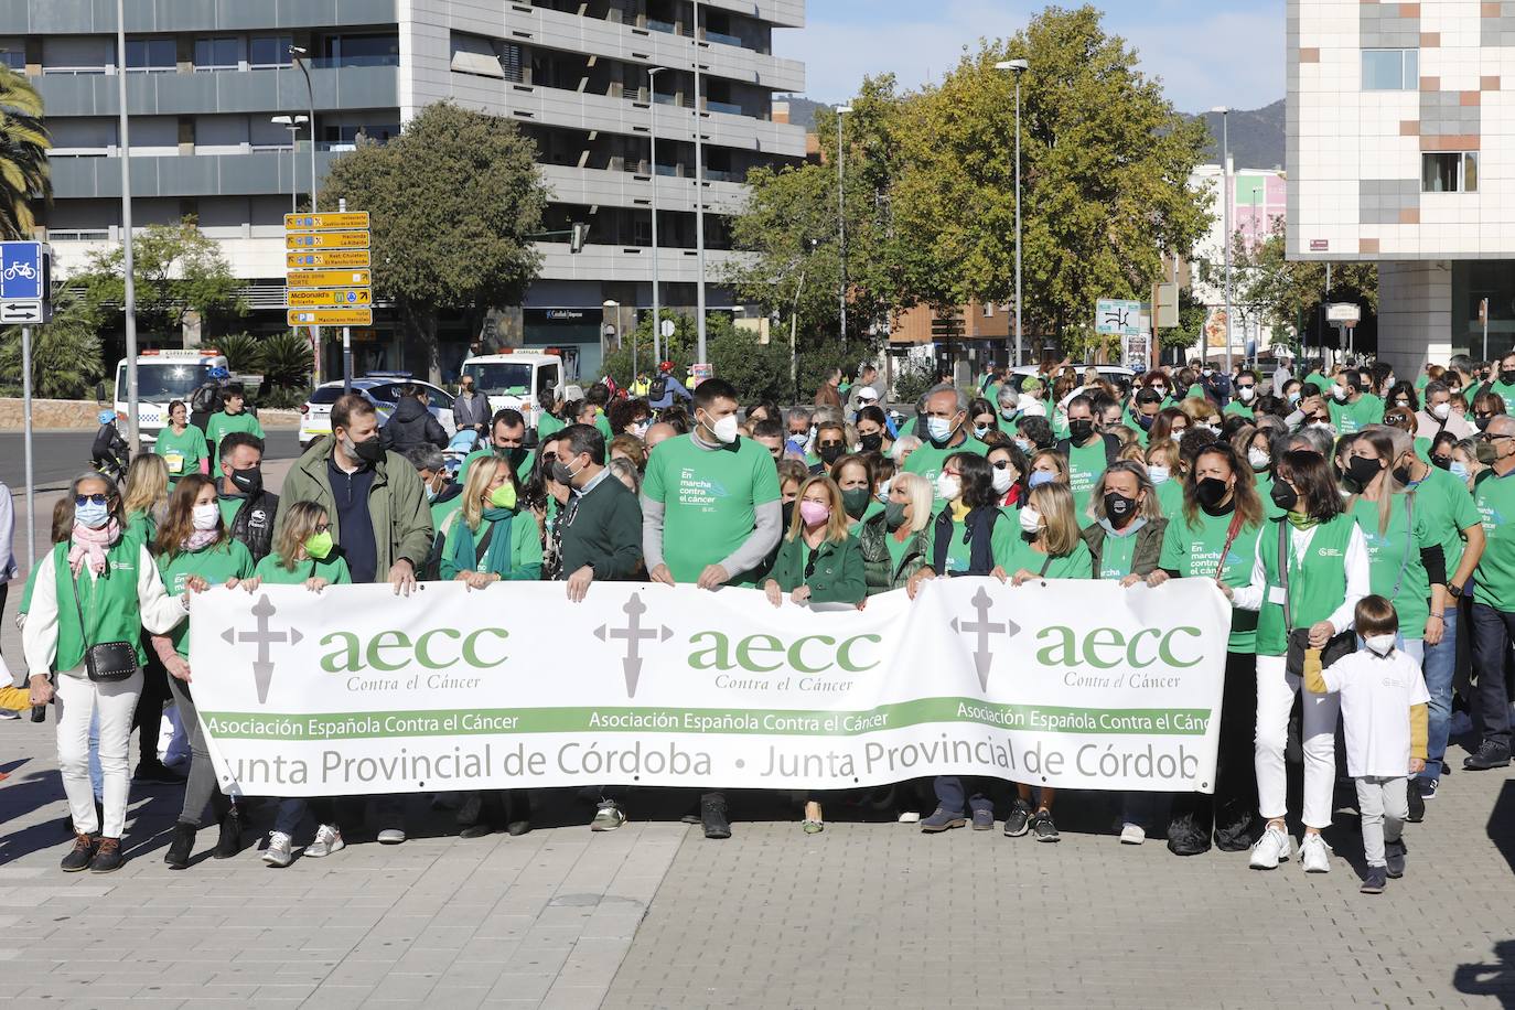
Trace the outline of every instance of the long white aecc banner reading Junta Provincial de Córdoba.
<path fill-rule="evenodd" d="M 865 610 L 751 589 L 214 589 L 191 671 L 229 792 L 850 789 L 939 774 L 1214 790 L 1214 583 L 927 583 Z"/>

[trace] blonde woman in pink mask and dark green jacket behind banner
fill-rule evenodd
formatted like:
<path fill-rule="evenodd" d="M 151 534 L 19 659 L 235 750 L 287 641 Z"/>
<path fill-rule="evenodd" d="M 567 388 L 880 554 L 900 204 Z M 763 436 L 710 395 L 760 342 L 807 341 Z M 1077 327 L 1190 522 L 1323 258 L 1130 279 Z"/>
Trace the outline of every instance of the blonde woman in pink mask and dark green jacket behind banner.
<path fill-rule="evenodd" d="M 848 525 L 836 482 L 824 475 L 806 480 L 789 531 L 779 544 L 779 557 L 764 580 L 768 601 L 782 606 L 788 594 L 797 604 L 862 603 L 868 595 L 862 550 Z M 804 803 L 803 828 L 806 834 L 826 830 L 820 793 L 812 792 Z"/>

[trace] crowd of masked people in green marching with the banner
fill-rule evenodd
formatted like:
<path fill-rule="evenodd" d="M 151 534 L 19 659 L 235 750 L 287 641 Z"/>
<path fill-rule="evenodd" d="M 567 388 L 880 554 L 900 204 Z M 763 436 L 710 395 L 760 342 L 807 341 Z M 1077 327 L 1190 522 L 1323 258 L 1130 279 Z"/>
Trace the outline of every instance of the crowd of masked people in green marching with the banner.
<path fill-rule="evenodd" d="M 212 584 L 377 581 L 409 595 L 421 580 L 473 591 L 527 580 L 565 583 L 579 601 L 595 581 L 650 580 L 747 586 L 776 607 L 862 607 L 959 575 L 1103 578 L 1133 592 L 1214 580 L 1233 609 L 1215 792 L 1121 796 L 1120 840 L 1165 830 L 1180 856 L 1214 843 L 1250 851 L 1257 869 L 1289 860 L 1292 725 L 1297 851 L 1306 871 L 1329 871 L 1321 831 L 1341 724 L 1365 890 L 1403 874 L 1403 824 L 1438 795 L 1454 715 L 1479 736 L 1463 768 L 1509 765 L 1515 354 L 1454 357 L 1403 380 L 1386 362 L 1315 360 L 1295 374 L 1283 360 L 1267 376 L 1194 363 L 1129 388 L 1095 369 L 989 366 L 904 413 L 882 392 L 873 368 L 845 388 L 835 373 L 814 406 L 788 412 L 744 404 L 720 379 L 692 392 L 671 376 L 630 391 L 570 386 L 544 394 L 533 432 L 465 388 L 454 418 L 477 447 L 456 472 L 424 404 L 380 426 L 353 394 L 277 498 L 262 488 L 261 430 L 236 419 L 239 397 L 227 397 L 217 416 L 230 422 L 214 441 L 195 439 L 176 404 L 158 451 L 121 483 L 95 471 L 73 482 L 24 594 L 30 701 L 58 706 L 76 834 L 64 869 L 120 865 L 129 737 L 142 730 L 138 778 L 173 777 L 147 739 L 170 698 L 191 757 L 165 859 L 188 866 L 208 822 L 215 856 L 241 848 L 242 804 L 220 792 L 194 716 L 188 625 Z M 1017 783 L 1000 796 L 994 780 L 939 777 L 923 809 L 918 787 L 894 795 L 923 831 L 992 830 L 998 804 L 1004 834 L 1059 837 L 1053 789 Z M 824 830 L 832 796 L 807 796 L 806 833 Z M 380 842 L 405 840 L 401 800 L 373 801 Z M 529 790 L 451 800 L 465 836 L 530 828 Z M 604 789 L 591 827 L 620 827 L 626 804 Z M 338 818 L 333 798 L 280 803 L 262 859 L 288 866 L 306 819 L 303 856 L 336 853 Z M 689 821 L 729 837 L 726 795 L 700 795 Z"/>

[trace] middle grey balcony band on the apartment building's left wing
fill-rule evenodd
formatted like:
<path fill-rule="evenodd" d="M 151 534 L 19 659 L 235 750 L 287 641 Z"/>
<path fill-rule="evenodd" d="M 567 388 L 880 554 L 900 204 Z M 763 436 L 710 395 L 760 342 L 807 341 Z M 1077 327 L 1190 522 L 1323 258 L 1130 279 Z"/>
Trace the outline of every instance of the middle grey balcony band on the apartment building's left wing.
<path fill-rule="evenodd" d="M 117 115 L 115 74 L 32 77 L 48 117 Z M 400 104 L 400 68 L 341 67 L 311 71 L 315 108 L 391 109 Z M 218 70 L 200 74 L 127 74 L 132 115 L 288 112 L 308 104 L 305 76 L 289 70 Z"/>

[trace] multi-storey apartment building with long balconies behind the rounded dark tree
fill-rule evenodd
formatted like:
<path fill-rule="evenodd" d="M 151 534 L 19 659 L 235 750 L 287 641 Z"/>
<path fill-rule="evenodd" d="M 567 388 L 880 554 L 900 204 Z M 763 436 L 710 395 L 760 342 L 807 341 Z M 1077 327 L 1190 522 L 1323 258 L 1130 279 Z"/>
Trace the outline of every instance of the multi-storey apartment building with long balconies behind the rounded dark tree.
<path fill-rule="evenodd" d="M 553 191 L 544 230 L 591 230 L 579 254 L 567 241 L 541 244 L 541 277 L 523 304 L 498 306 L 483 344 L 571 347 L 588 374 L 614 318 L 603 303 L 651 306 L 654 186 L 662 304 L 695 304 L 701 198 L 709 304 L 730 306 L 714 283 L 732 256 L 723 214 L 751 167 L 804 156 L 804 132 L 773 114 L 774 94 L 804 88 L 803 65 L 773 56 L 773 33 L 803 24 L 803 0 L 127 0 L 123 68 L 112 3 L 17 0 L 0 6 L 0 61 L 47 103 L 45 235 L 59 271 L 120 241 L 126 73 L 133 224 L 195 215 L 245 279 L 255 332 L 283 326 L 282 215 L 311 189 L 309 126 L 274 117 L 314 106 L 317 176 L 433 101 L 509 117 L 538 144 Z M 444 371 L 480 338 L 461 326 L 444 330 Z M 361 368 L 417 366 L 382 306 L 356 347 Z"/>

